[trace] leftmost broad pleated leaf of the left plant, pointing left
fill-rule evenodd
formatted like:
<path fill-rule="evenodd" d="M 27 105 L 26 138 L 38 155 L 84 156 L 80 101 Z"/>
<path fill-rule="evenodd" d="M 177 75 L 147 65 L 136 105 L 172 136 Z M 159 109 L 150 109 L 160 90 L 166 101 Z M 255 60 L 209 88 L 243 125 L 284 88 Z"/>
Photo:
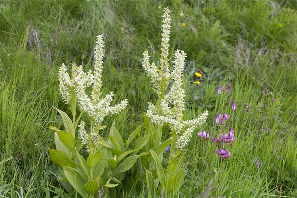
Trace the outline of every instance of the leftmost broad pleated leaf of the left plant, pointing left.
<path fill-rule="evenodd" d="M 48 151 L 51 161 L 60 168 L 63 168 L 64 166 L 69 166 L 72 168 L 75 167 L 75 163 L 66 155 L 65 152 L 50 148 L 48 148 Z"/>

